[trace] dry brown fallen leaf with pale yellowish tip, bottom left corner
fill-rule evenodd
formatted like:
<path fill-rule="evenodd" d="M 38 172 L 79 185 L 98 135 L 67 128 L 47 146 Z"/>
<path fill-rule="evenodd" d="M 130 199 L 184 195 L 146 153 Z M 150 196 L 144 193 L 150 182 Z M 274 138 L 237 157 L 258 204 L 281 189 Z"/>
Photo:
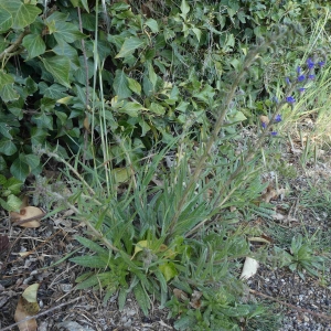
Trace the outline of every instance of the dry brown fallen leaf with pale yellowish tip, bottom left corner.
<path fill-rule="evenodd" d="M 19 299 L 14 320 L 20 322 L 28 317 L 36 314 L 40 310 L 36 302 L 36 292 L 39 289 L 39 284 L 33 284 L 25 288 L 21 298 Z M 19 323 L 20 331 L 35 331 L 38 329 L 36 320 L 31 319 L 24 322 Z"/>

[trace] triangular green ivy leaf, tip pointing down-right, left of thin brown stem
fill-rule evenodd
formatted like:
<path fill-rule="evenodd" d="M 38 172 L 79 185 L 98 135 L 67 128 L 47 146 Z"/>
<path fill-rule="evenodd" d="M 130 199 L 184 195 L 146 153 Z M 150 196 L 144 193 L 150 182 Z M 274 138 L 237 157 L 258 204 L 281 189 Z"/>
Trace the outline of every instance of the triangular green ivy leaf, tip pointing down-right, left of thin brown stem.
<path fill-rule="evenodd" d="M 50 72 L 54 79 L 65 87 L 71 87 L 70 70 L 71 61 L 66 56 L 55 55 L 53 57 L 42 58 L 42 62 L 47 72 Z"/>

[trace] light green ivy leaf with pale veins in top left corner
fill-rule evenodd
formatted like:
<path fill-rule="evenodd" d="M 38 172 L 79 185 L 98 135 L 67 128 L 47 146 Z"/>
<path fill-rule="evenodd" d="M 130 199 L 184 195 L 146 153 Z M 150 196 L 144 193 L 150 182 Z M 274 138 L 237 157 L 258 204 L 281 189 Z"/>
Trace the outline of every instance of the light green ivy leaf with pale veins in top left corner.
<path fill-rule="evenodd" d="M 11 28 L 17 30 L 33 23 L 35 18 L 42 12 L 36 6 L 25 4 L 21 0 L 0 0 L 0 8 L 10 13 L 12 17 Z"/>

